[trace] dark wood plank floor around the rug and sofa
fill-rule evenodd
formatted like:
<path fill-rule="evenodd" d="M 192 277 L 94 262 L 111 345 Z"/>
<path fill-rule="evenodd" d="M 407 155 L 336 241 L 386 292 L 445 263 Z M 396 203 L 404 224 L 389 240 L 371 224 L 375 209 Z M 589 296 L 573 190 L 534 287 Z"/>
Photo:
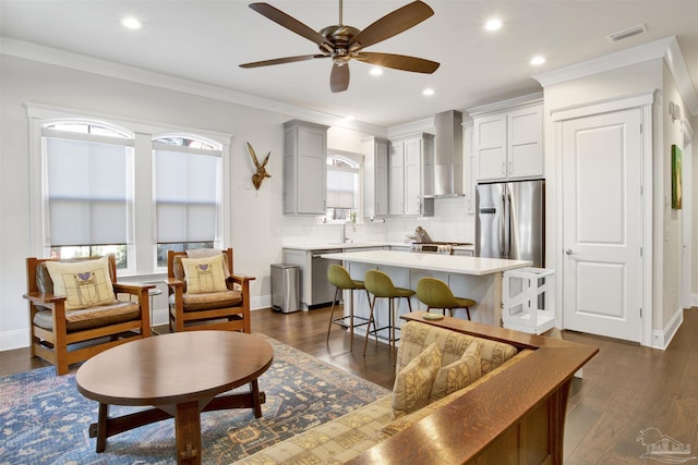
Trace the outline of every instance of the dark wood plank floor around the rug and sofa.
<path fill-rule="evenodd" d="M 395 374 L 387 345 L 370 342 L 364 357 L 361 329 L 350 351 L 349 333 L 338 326 L 333 326 L 327 343 L 328 318 L 329 308 L 296 314 L 257 310 L 252 313 L 252 329 L 392 389 Z M 639 458 L 647 449 L 637 440 L 648 428 L 698 450 L 697 308 L 684 313 L 684 325 L 666 351 L 570 331 L 563 336 L 600 348 L 583 368 L 583 379 L 573 384 L 566 464 L 648 463 Z M 45 365 L 31 359 L 26 348 L 0 352 L 0 376 Z"/>

